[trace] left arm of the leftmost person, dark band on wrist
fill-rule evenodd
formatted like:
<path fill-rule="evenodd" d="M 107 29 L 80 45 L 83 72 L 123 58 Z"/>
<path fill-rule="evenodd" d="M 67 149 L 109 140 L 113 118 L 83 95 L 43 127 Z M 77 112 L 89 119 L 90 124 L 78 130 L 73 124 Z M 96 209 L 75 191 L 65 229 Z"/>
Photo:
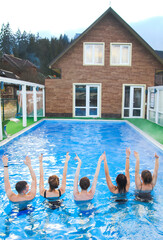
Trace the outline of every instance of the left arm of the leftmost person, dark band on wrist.
<path fill-rule="evenodd" d="M 11 185 L 9 181 L 9 173 L 8 173 L 8 157 L 3 155 L 2 157 L 3 165 L 4 165 L 4 184 L 5 184 L 5 191 L 7 194 L 7 197 L 10 201 L 13 200 L 13 197 L 16 196 L 16 194 L 11 190 Z"/>

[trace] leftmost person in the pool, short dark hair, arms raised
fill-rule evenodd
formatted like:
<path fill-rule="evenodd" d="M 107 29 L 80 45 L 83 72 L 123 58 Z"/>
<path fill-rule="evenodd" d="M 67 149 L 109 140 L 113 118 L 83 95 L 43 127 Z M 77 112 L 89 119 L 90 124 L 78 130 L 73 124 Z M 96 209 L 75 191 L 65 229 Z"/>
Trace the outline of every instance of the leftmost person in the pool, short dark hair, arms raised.
<path fill-rule="evenodd" d="M 11 190 L 10 181 L 9 181 L 9 173 L 8 173 L 8 157 L 4 155 L 2 157 L 3 165 L 4 165 L 4 184 L 5 184 L 5 191 L 7 194 L 7 197 L 12 202 L 22 202 L 22 201 L 30 201 L 32 200 L 36 195 L 36 189 L 37 189 L 37 181 L 36 181 L 36 175 L 31 165 L 31 159 L 30 157 L 26 156 L 24 163 L 29 168 L 32 183 L 31 183 L 31 190 L 29 191 L 29 185 L 26 181 L 19 181 L 16 183 L 15 188 L 18 194 L 15 194 Z M 28 192 L 29 191 L 29 192 Z"/>

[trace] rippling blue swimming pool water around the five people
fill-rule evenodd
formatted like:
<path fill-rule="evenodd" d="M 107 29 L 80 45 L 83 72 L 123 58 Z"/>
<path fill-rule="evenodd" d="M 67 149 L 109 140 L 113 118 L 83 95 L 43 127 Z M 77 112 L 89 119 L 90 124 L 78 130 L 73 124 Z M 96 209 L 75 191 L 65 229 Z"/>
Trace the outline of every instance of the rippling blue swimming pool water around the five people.
<path fill-rule="evenodd" d="M 129 193 L 127 201 L 117 201 L 118 196 L 108 190 L 104 164 L 101 164 L 94 200 L 75 203 L 73 181 L 77 163 L 75 153 L 82 160 L 80 177 L 91 182 L 97 161 L 106 151 L 110 175 L 115 184 L 117 174 L 125 170 L 125 149 L 131 148 Z M 135 158 L 140 154 L 140 171 L 153 172 L 154 154 L 160 156 L 158 181 L 150 202 L 135 199 Z M 43 153 L 44 180 L 57 174 L 62 178 L 66 152 L 70 152 L 66 193 L 59 209 L 52 210 L 39 195 L 39 160 Z M 19 212 L 4 191 L 3 164 L 0 160 L 0 239 L 163 239 L 163 151 L 125 122 L 107 121 L 43 121 L 21 136 L 0 148 L 9 156 L 9 174 L 14 190 L 18 180 L 30 183 L 30 174 L 23 164 L 26 155 L 32 159 L 37 175 L 37 195 L 28 209 Z M 15 191 L 15 190 L 14 190 Z"/>

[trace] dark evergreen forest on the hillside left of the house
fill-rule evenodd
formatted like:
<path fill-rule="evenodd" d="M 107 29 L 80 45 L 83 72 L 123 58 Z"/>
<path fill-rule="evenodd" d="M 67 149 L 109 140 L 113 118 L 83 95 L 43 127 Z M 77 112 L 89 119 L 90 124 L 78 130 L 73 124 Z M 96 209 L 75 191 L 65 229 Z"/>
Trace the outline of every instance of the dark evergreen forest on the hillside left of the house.
<path fill-rule="evenodd" d="M 0 57 L 3 54 L 12 54 L 14 57 L 28 59 L 45 76 L 53 74 L 48 68 L 49 63 L 60 54 L 72 40 L 67 35 L 59 38 L 41 38 L 38 34 L 21 32 L 19 29 L 13 33 L 10 24 L 2 24 L 0 32 Z"/>

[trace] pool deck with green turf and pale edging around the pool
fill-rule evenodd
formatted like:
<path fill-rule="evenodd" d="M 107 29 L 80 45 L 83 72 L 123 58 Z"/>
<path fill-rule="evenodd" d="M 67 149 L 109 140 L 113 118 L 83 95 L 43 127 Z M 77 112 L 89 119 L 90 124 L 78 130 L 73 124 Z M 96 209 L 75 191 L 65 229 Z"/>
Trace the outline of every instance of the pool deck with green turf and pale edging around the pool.
<path fill-rule="evenodd" d="M 37 122 L 34 122 L 33 118 L 28 118 L 27 119 L 27 127 L 24 128 L 22 126 L 22 119 L 20 118 L 20 121 L 15 123 L 15 122 L 9 122 L 7 124 L 7 133 L 9 137 L 3 141 L 1 141 L 0 145 L 4 145 L 6 142 L 10 141 L 14 137 L 20 135 L 22 132 L 28 130 L 29 128 L 33 127 L 36 125 L 38 122 L 44 120 L 44 119 L 54 119 L 54 120 L 59 120 L 59 119 L 64 119 L 64 120 L 97 120 L 97 121 L 106 121 L 106 120 L 116 120 L 116 121 L 127 121 L 132 127 L 134 127 L 137 131 L 139 131 L 143 136 L 148 138 L 150 141 L 152 141 L 155 145 L 157 145 L 159 148 L 163 150 L 163 127 L 150 122 L 146 119 L 79 119 L 79 118 L 38 118 Z"/>

